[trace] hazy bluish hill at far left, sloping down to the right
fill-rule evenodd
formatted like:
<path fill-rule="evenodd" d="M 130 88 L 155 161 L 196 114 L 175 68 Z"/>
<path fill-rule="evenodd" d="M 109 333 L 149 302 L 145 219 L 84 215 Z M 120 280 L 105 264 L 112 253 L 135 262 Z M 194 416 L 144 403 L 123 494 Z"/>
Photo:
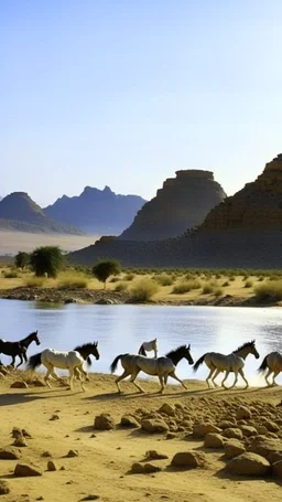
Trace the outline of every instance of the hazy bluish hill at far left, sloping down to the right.
<path fill-rule="evenodd" d="M 13 192 L 0 201 L 0 228 L 32 232 L 83 234 L 79 228 L 47 217 L 25 192 Z"/>

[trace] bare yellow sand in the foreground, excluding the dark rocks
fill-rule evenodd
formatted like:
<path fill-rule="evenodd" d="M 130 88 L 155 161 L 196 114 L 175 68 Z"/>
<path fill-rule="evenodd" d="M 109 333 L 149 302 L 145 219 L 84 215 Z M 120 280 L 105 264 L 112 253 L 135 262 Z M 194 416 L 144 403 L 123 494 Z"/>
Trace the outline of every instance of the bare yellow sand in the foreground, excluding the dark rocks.
<path fill-rule="evenodd" d="M 20 378 L 23 373 L 21 372 Z M 188 405 L 191 417 L 203 403 L 207 414 L 217 414 L 218 404 L 227 400 L 252 404 L 278 404 L 280 388 L 250 388 L 248 391 L 207 391 L 203 382 L 187 381 L 188 391 L 180 386 L 167 387 L 164 395 L 158 395 L 155 381 L 144 381 L 145 395 L 135 394 L 132 384 L 123 383 L 122 395 L 116 394 L 113 377 L 93 374 L 87 391 L 82 393 L 78 383 L 74 392 L 56 385 L 52 389 L 33 387 L 10 388 L 19 375 L 7 375 L 0 380 L 1 428 L 0 447 L 12 444 L 12 427 L 25 428 L 32 435 L 28 447 L 22 448 L 24 462 L 40 466 L 43 476 L 37 478 L 14 478 L 17 460 L 0 460 L 0 480 L 7 480 L 10 494 L 1 495 L 1 502 L 44 500 L 50 502 L 76 502 L 87 495 L 98 495 L 101 502 L 151 502 L 167 500 L 177 502 L 275 502 L 281 500 L 281 483 L 273 479 L 229 478 L 224 471 L 223 452 L 205 450 L 208 456 L 207 469 L 173 471 L 169 464 L 177 451 L 203 450 L 202 440 L 185 440 L 183 436 L 167 440 L 164 435 L 148 435 L 134 429 L 116 428 L 111 431 L 93 429 L 94 418 L 109 413 L 117 423 L 124 413 L 137 408 L 159 408 L 163 403 Z M 58 419 L 51 420 L 56 414 Z M 204 412 L 205 415 L 205 412 Z M 95 437 L 91 437 L 95 434 Z M 79 456 L 65 458 L 69 449 Z M 149 449 L 169 456 L 167 460 L 153 463 L 163 468 L 154 474 L 129 474 L 135 461 L 144 459 Z M 50 451 L 58 467 L 47 472 Z M 65 470 L 59 470 L 61 467 Z"/>

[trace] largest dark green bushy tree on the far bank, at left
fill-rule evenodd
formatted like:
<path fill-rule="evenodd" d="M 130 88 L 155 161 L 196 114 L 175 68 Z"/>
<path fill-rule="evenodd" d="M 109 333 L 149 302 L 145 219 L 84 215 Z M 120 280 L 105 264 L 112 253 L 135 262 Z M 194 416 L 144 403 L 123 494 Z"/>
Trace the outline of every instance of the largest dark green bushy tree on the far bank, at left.
<path fill-rule="evenodd" d="M 64 265 L 64 257 L 58 246 L 41 246 L 32 252 L 30 264 L 36 277 L 55 278 Z"/>

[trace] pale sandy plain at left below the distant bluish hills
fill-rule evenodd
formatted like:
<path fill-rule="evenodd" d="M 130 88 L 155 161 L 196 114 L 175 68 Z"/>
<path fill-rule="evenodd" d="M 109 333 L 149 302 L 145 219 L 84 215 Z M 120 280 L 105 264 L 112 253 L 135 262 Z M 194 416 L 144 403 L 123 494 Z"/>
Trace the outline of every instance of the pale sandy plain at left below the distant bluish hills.
<path fill-rule="evenodd" d="M 0 231 L 0 255 L 17 255 L 19 250 L 32 252 L 37 246 L 59 246 L 72 252 L 94 244 L 97 235 L 28 234 Z"/>

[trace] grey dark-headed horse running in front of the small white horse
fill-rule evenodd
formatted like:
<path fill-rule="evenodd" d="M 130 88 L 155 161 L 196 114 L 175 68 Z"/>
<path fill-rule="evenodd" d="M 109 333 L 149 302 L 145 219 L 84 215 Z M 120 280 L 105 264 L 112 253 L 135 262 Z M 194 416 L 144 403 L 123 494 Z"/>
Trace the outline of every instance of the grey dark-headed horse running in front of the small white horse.
<path fill-rule="evenodd" d="M 135 354 L 118 355 L 110 365 L 110 371 L 113 373 L 117 369 L 118 362 L 120 361 L 124 370 L 122 375 L 118 376 L 116 380 L 118 392 L 121 392 L 119 382 L 130 375 L 130 382 L 132 382 L 132 384 L 134 384 L 140 392 L 144 393 L 141 385 L 135 382 L 137 376 L 141 371 L 148 375 L 159 376 L 161 384 L 160 394 L 163 393 L 169 376 L 180 382 L 184 388 L 187 388 L 184 382 L 175 375 L 175 367 L 183 357 L 186 359 L 189 364 L 194 363 L 189 351 L 189 345 L 182 345 L 161 357 L 145 357 L 143 355 Z"/>

